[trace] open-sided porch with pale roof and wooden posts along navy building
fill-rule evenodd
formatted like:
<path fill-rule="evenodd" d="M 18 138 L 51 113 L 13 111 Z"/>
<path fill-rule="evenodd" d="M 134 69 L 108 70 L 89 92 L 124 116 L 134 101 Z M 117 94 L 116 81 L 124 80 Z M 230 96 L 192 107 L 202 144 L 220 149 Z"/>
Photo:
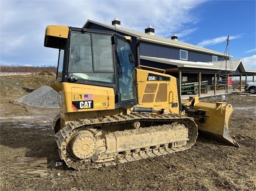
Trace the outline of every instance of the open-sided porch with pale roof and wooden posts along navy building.
<path fill-rule="evenodd" d="M 254 76 L 256 75 L 256 71 L 245 69 L 241 59 L 215 62 L 193 62 L 149 56 L 140 56 L 140 59 L 142 63 L 144 61 L 147 63 L 152 62 L 161 66 L 162 69 L 165 69 L 166 72 L 172 76 L 176 76 L 180 82 L 180 91 L 182 81 L 186 81 L 188 78 L 190 81 L 198 81 L 198 96 L 200 96 L 201 93 L 200 88 L 202 80 L 210 81 L 208 84 L 213 86 L 214 95 L 216 95 L 218 74 L 225 74 L 225 71 L 230 73 L 230 77 L 239 76 L 239 84 L 236 87 L 232 87 L 238 88 L 239 91 L 242 91 L 242 76 L 245 76 L 245 81 L 247 82 L 248 76 L 252 76 L 254 81 Z M 183 79 L 184 77 L 185 80 Z M 228 74 L 226 78 L 228 78 Z M 222 80 L 226 81 L 226 79 Z M 228 93 L 228 89 L 226 89 L 226 93 Z"/>

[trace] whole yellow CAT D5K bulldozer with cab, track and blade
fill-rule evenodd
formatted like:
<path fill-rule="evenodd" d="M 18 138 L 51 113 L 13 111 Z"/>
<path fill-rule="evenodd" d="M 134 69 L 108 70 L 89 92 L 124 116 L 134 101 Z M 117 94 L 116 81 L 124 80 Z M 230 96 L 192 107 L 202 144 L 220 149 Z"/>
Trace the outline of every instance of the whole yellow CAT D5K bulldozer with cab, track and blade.
<path fill-rule="evenodd" d="M 232 106 L 181 100 L 178 79 L 137 67 L 131 37 L 49 25 L 44 46 L 59 49 L 60 114 L 53 124 L 60 158 L 90 169 L 189 149 L 198 130 L 239 146 L 229 133 Z M 136 49 L 139 47 L 137 42 Z"/>

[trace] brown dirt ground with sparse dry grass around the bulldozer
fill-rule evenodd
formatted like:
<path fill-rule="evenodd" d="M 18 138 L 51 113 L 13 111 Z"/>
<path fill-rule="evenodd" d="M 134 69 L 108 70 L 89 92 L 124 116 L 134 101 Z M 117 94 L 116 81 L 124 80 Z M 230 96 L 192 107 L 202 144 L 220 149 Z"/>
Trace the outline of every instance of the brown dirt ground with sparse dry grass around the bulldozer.
<path fill-rule="evenodd" d="M 256 96 L 228 95 L 233 106 L 231 136 L 241 148 L 198 135 L 196 144 L 184 152 L 75 171 L 55 167 L 61 160 L 51 123 L 58 109 L 14 101 L 54 80 L 48 73 L 0 76 L 0 190 L 256 189 Z M 11 177 L 13 157 L 47 157 L 47 177 Z"/>

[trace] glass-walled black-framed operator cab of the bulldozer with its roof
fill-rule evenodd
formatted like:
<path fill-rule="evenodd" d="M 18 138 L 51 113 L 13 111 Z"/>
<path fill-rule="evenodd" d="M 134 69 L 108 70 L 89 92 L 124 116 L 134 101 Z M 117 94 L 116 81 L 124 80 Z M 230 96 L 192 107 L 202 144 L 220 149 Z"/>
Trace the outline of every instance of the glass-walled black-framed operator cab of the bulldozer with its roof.
<path fill-rule="evenodd" d="M 109 31 L 64 30 L 65 39 L 58 26 L 48 26 L 45 33 L 45 47 L 59 48 L 57 81 L 110 87 L 115 108 L 136 105 L 136 69 L 128 40 Z"/>

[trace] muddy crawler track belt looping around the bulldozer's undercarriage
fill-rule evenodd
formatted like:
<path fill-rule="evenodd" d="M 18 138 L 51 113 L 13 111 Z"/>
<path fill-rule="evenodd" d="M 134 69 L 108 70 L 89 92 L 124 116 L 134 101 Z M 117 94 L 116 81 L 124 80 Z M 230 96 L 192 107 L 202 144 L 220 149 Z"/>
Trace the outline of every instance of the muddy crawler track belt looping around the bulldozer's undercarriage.
<path fill-rule="evenodd" d="M 170 147 L 159 147 L 156 149 L 147 149 L 140 150 L 139 152 L 131 151 L 128 154 L 118 154 L 115 157 L 115 160 L 109 162 L 91 162 L 89 159 L 76 160 L 71 157 L 66 151 L 67 141 L 70 136 L 80 130 L 81 128 L 92 129 L 93 127 L 99 127 L 103 125 L 114 125 L 119 123 L 133 122 L 133 121 L 148 121 L 148 122 L 177 122 L 183 121 L 188 125 L 189 132 L 189 141 L 185 146 L 179 148 L 170 148 Z M 193 123 L 193 125 L 191 124 Z M 193 127 L 194 126 L 194 127 Z M 146 128 L 146 127 L 145 127 Z M 92 169 L 99 168 L 103 166 L 111 166 L 125 162 L 131 162 L 143 158 L 161 156 L 165 154 L 171 154 L 174 152 L 183 151 L 189 149 L 196 141 L 197 137 L 197 126 L 191 118 L 178 115 L 178 114 L 142 114 L 142 113 L 131 113 L 125 115 L 117 115 L 110 117 L 101 117 L 101 118 L 86 118 L 83 120 L 76 120 L 74 122 L 68 123 L 63 129 L 59 130 L 55 134 L 55 139 L 58 144 L 60 158 L 63 159 L 68 167 L 72 167 L 74 169 Z"/>

